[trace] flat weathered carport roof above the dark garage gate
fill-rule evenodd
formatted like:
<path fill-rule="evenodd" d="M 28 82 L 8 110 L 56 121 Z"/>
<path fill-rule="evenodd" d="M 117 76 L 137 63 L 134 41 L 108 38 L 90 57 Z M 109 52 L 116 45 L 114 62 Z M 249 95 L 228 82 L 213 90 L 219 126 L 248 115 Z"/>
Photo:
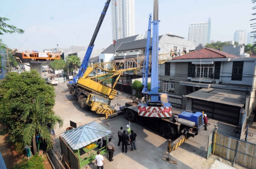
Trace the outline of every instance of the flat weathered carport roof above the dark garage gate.
<path fill-rule="evenodd" d="M 228 89 L 200 89 L 196 92 L 185 95 L 193 99 L 212 101 L 231 106 L 243 107 L 246 103 L 247 92 Z"/>

